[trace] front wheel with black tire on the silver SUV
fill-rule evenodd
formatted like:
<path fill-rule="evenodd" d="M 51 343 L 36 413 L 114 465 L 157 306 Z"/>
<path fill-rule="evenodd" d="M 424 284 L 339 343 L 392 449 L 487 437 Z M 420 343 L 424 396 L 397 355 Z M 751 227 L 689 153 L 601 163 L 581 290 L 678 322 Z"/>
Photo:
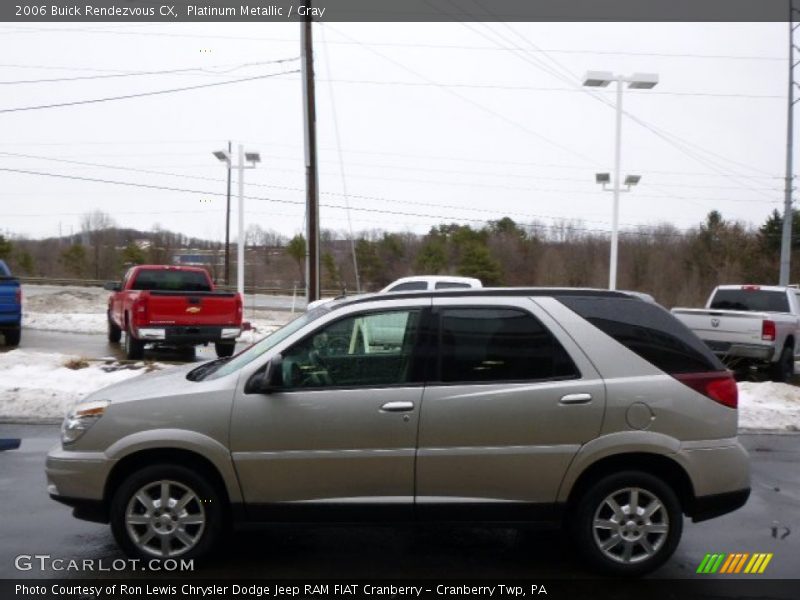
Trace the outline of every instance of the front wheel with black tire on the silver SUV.
<path fill-rule="evenodd" d="M 160 500 L 162 482 L 169 482 L 167 490 L 171 499 L 164 511 Z M 179 503 L 187 493 L 192 499 L 178 509 L 173 502 Z M 142 494 L 152 502 L 149 509 L 137 499 L 137 496 L 143 497 Z M 133 558 L 200 558 L 214 548 L 225 530 L 222 498 L 202 471 L 173 464 L 145 467 L 128 476 L 117 488 L 109 511 L 111 532 L 119 547 Z M 128 524 L 129 511 L 140 523 Z M 185 524 L 181 519 L 185 519 Z M 148 541 L 149 534 L 152 536 Z M 191 539 L 192 545 L 181 541 L 180 535 Z M 166 546 L 162 546 L 164 538 L 168 538 Z M 163 554 L 164 548 L 172 554 Z"/>

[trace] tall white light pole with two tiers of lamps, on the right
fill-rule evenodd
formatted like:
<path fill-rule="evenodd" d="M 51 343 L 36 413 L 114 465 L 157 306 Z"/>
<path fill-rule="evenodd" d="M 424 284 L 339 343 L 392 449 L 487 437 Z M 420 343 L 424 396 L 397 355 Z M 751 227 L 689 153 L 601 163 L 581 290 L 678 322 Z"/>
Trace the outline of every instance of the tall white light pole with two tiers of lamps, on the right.
<path fill-rule="evenodd" d="M 583 85 L 588 87 L 606 87 L 610 83 L 617 84 L 616 102 L 616 127 L 614 134 L 614 207 L 611 217 L 611 256 L 608 265 L 608 289 L 617 289 L 617 258 L 619 254 L 619 195 L 621 189 L 620 171 L 622 168 L 622 86 L 627 83 L 629 88 L 638 90 L 649 90 L 658 84 L 658 75 L 654 73 L 634 73 L 630 77 L 625 75 L 614 75 L 608 71 L 589 71 L 584 78 Z M 601 177 L 601 175 L 603 177 Z M 598 173 L 597 182 L 603 184 L 605 189 L 608 183 L 608 174 Z M 631 185 L 639 182 L 638 175 L 629 175 L 625 184 L 630 190 Z"/>

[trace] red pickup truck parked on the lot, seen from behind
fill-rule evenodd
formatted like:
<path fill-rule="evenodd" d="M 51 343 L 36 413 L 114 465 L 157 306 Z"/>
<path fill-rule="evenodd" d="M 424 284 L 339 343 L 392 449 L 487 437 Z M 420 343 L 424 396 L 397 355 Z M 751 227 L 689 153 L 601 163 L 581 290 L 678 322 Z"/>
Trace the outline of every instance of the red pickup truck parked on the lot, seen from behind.
<path fill-rule="evenodd" d="M 242 331 L 242 298 L 218 292 L 205 269 L 139 265 L 122 282 L 109 282 L 108 341 L 125 332 L 125 354 L 140 359 L 145 344 L 196 346 L 213 343 L 217 356 L 233 354 Z"/>

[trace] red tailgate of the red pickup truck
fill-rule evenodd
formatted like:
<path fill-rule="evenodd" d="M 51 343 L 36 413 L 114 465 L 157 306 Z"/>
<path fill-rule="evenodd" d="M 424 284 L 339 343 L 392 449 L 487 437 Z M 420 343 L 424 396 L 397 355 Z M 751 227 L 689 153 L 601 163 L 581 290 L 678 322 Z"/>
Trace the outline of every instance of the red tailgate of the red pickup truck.
<path fill-rule="evenodd" d="M 233 292 L 148 292 L 146 321 L 150 325 L 236 325 L 241 303 Z"/>

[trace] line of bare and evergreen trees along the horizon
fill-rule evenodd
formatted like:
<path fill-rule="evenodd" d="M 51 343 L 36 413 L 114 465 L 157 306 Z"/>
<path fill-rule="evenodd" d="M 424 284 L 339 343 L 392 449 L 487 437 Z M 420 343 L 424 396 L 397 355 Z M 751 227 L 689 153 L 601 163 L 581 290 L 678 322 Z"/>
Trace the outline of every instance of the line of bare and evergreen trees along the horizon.
<path fill-rule="evenodd" d="M 728 220 L 718 211 L 688 230 L 670 224 L 620 232 L 618 287 L 646 292 L 665 306 L 702 304 L 714 286 L 774 284 L 783 219 L 774 211 L 761 226 Z M 85 215 L 81 232 L 45 240 L 0 237 L 0 258 L 22 275 L 118 279 L 134 264 L 173 264 L 176 252 L 202 251 L 212 277 L 222 282 L 224 246 L 154 227 L 121 229 L 105 213 Z M 800 281 L 800 213 L 792 236 L 792 281 Z M 608 285 L 609 235 L 579 221 L 521 224 L 509 217 L 481 226 L 439 224 L 428 233 L 364 231 L 349 240 L 326 230 L 321 239 L 322 287 L 376 290 L 413 274 L 477 277 L 484 285 Z M 248 285 L 304 286 L 306 243 L 252 225 L 247 231 Z M 231 273 L 235 273 L 235 246 Z M 233 282 L 231 282 L 233 283 Z"/>

